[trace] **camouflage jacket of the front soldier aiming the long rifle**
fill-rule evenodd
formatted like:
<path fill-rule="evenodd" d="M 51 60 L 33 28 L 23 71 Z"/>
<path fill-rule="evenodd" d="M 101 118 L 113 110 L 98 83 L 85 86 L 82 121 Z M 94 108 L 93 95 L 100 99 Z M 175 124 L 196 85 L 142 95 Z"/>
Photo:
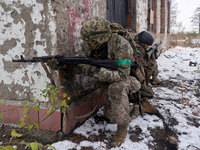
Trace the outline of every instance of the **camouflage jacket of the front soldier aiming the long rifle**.
<path fill-rule="evenodd" d="M 134 61 L 133 49 L 130 43 L 118 34 L 112 34 L 109 41 L 105 44 L 104 48 L 97 51 L 90 51 L 86 44 L 83 44 L 81 56 L 98 59 L 129 59 L 131 63 Z M 87 70 L 92 66 L 81 65 L 83 72 L 87 75 Z M 130 75 L 130 66 L 119 67 L 117 70 L 110 70 L 101 67 L 97 79 L 103 83 L 113 83 L 126 79 Z"/>

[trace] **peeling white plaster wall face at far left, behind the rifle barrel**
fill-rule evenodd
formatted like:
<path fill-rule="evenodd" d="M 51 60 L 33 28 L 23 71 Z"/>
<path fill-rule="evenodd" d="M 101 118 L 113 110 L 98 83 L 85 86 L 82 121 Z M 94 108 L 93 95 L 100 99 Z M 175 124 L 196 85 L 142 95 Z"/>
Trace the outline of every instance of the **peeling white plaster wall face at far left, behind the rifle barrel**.
<path fill-rule="evenodd" d="M 0 98 L 40 98 L 49 82 L 40 63 L 13 63 L 24 55 L 55 53 L 55 21 L 50 1 L 2 0 L 0 2 Z"/>

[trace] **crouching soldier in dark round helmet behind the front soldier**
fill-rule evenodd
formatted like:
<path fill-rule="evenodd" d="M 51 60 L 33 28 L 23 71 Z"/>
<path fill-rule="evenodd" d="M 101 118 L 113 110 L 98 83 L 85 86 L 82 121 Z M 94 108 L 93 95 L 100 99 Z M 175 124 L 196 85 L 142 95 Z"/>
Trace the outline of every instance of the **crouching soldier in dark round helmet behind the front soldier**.
<path fill-rule="evenodd" d="M 134 41 L 136 43 L 134 50 L 134 58 L 141 65 L 140 70 L 142 74 L 144 74 L 141 94 L 144 97 L 152 98 L 154 92 L 151 89 L 151 87 L 149 87 L 149 82 L 151 76 L 155 83 L 159 82 L 159 80 L 157 79 L 158 68 L 154 54 L 152 54 L 153 56 L 151 57 L 151 59 L 147 57 L 147 49 L 150 45 L 153 44 L 154 38 L 151 35 L 151 33 L 147 31 L 142 31 L 135 36 Z"/>

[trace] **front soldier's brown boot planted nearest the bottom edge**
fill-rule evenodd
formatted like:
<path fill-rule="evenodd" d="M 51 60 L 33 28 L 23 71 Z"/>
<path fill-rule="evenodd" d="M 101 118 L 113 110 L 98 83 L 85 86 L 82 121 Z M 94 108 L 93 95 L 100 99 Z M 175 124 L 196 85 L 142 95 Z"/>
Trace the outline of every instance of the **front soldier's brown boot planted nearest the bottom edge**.
<path fill-rule="evenodd" d="M 117 125 L 117 132 L 112 138 L 110 143 L 111 147 L 120 147 L 127 135 L 127 128 L 128 126 Z"/>

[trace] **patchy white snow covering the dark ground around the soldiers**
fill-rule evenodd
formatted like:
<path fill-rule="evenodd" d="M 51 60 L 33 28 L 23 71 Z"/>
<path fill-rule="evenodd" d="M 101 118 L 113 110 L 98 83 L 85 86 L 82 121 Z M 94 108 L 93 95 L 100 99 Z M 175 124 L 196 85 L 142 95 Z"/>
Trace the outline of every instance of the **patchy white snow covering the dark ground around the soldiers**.
<path fill-rule="evenodd" d="M 197 66 L 189 66 L 189 62 L 197 62 Z M 199 89 L 200 73 L 197 72 L 200 63 L 200 48 L 175 47 L 162 53 L 158 60 L 159 79 L 172 84 L 168 86 L 154 86 L 155 97 L 151 103 L 155 105 L 170 129 L 177 134 L 178 150 L 200 149 L 200 97 L 196 97 Z M 199 79 L 199 80 L 198 80 Z M 99 110 L 99 115 L 103 111 Z M 136 133 L 136 129 L 140 129 Z M 163 129 L 163 121 L 155 115 L 142 115 L 132 120 L 128 128 L 125 142 L 119 148 L 112 150 L 155 150 L 155 136 L 153 129 Z M 82 141 L 80 144 L 71 141 L 60 141 L 52 144 L 57 150 L 93 147 L 95 150 L 107 149 L 109 140 L 117 130 L 116 124 L 107 122 L 96 123 L 90 117 L 74 133 L 85 136 L 99 135 L 105 132 L 103 141 Z M 155 131 L 154 130 L 154 131 Z M 134 141 L 134 136 L 139 140 Z"/>

